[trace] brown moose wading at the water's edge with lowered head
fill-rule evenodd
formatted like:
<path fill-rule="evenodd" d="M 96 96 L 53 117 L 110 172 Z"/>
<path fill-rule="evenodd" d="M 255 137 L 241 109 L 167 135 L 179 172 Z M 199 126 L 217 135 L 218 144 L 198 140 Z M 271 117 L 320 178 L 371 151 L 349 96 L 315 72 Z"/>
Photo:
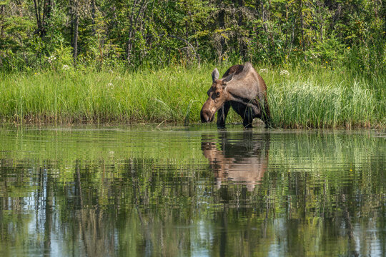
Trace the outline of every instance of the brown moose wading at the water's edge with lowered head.
<path fill-rule="evenodd" d="M 252 127 L 254 118 L 264 121 L 269 126 L 271 116 L 267 102 L 267 86 L 257 74 L 252 64 L 234 65 L 225 71 L 219 79 L 219 71 L 212 71 L 212 86 L 207 91 L 209 96 L 201 109 L 202 123 L 211 122 L 217 111 L 217 127 L 225 127 L 228 111 L 232 109 L 242 116 L 245 128 Z"/>

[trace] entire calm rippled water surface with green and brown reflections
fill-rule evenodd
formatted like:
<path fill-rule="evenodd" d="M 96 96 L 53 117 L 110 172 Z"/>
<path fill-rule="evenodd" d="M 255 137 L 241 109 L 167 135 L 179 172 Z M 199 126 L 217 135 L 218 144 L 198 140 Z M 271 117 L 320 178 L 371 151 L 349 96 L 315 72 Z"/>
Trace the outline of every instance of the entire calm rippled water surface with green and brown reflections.
<path fill-rule="evenodd" d="M 385 256 L 386 133 L 0 128 L 0 256 Z"/>

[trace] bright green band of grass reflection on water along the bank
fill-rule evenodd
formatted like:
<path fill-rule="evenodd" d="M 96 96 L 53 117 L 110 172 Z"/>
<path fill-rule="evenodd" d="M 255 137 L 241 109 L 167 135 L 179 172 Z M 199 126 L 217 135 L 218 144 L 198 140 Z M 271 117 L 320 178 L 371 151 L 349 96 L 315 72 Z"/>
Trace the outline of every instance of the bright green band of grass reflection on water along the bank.
<path fill-rule="evenodd" d="M 217 130 L 174 131 L 164 127 L 139 126 L 134 129 L 43 129 L 20 130 L 1 128 L 1 158 L 60 160 L 63 163 L 98 161 L 117 163 L 135 159 L 153 160 L 164 165 L 189 165 L 192 161 L 207 163 L 203 156 L 201 142 L 217 142 Z M 243 132 L 230 132 L 229 140 L 242 140 Z M 258 132 L 255 132 L 258 133 Z M 205 135 L 209 135 L 207 138 Z M 204 136 L 204 137 L 203 137 Z M 235 137 L 234 137 L 235 136 Z M 368 156 L 379 155 L 385 148 L 385 141 L 374 137 L 371 131 L 337 132 L 311 131 L 309 133 L 273 132 L 270 136 L 269 163 L 281 163 L 292 168 L 306 164 L 312 172 L 328 172 L 329 166 L 337 163 L 352 163 L 349 168 L 362 165 Z M 9 155 L 11 154 L 11 155 Z M 285 160 L 285 161 L 283 161 Z M 366 162 L 364 162 L 366 163 Z M 335 171 L 334 171 L 335 172 Z"/>

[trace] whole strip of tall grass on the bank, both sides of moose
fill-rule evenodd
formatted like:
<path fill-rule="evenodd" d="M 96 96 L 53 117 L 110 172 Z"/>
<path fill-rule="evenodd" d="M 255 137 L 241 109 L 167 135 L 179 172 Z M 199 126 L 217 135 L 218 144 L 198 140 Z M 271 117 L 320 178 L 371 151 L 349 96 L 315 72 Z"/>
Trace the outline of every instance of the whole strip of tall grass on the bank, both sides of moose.
<path fill-rule="evenodd" d="M 228 66 L 219 67 L 223 73 Z M 385 76 L 345 70 L 255 65 L 267 82 L 273 126 L 385 126 Z M 0 118 L 16 123 L 199 122 L 211 84 L 209 64 L 129 73 L 36 71 L 1 74 Z M 241 119 L 231 114 L 228 122 Z"/>

